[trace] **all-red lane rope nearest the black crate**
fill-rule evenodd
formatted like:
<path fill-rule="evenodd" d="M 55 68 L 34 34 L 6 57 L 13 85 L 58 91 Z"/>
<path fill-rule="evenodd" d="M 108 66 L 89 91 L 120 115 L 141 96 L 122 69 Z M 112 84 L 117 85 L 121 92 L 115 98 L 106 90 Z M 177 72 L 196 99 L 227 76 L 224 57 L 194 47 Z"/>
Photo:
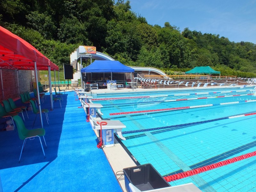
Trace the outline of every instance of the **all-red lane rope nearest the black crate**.
<path fill-rule="evenodd" d="M 192 176 L 192 175 L 196 175 L 198 173 L 202 173 L 202 172 L 206 172 L 206 171 L 218 168 L 218 167 L 222 167 L 224 165 L 235 163 L 237 161 L 241 161 L 241 160 L 247 159 L 247 158 L 252 157 L 252 156 L 256 156 L 256 151 L 253 151 L 251 153 L 247 153 L 247 154 L 244 154 L 244 155 L 241 155 L 241 156 L 233 157 L 231 159 L 227 159 L 227 160 L 224 160 L 224 161 L 220 161 L 218 163 L 206 165 L 206 166 L 203 166 L 203 167 L 199 167 L 199 168 L 192 169 L 192 170 L 189 170 L 189 171 L 177 173 L 177 174 L 174 174 L 174 175 L 169 175 L 169 176 L 164 177 L 164 179 L 167 182 L 183 179 L 185 177 L 189 177 L 189 176 Z"/>

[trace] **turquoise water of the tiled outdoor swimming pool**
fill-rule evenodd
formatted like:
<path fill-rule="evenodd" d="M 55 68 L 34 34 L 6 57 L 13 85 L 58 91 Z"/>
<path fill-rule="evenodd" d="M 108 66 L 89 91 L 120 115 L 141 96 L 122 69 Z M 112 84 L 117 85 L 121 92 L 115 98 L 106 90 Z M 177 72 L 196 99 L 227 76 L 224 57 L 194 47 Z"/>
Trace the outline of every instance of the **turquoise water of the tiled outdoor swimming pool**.
<path fill-rule="evenodd" d="M 126 140 L 122 142 L 140 164 L 150 163 L 166 176 L 256 151 L 255 115 L 206 122 L 255 112 L 255 91 L 231 88 L 108 93 L 98 94 L 93 102 L 103 105 L 104 119 L 124 123 L 124 131 L 162 128 L 123 134 Z M 180 109 L 188 106 L 201 107 Z M 142 112 L 166 108 L 173 110 Z M 132 113 L 115 114 L 127 112 Z M 255 157 L 251 157 L 170 184 L 193 182 L 202 191 L 253 191 L 255 164 Z"/>

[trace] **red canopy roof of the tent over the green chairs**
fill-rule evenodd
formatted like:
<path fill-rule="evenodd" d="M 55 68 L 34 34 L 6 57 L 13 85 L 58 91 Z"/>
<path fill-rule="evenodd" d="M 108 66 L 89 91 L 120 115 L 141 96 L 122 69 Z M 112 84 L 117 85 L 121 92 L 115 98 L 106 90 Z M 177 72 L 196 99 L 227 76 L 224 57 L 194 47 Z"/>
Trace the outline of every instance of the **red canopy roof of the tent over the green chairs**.
<path fill-rule="evenodd" d="M 0 67 L 7 69 L 59 70 L 47 57 L 19 36 L 0 26 Z"/>

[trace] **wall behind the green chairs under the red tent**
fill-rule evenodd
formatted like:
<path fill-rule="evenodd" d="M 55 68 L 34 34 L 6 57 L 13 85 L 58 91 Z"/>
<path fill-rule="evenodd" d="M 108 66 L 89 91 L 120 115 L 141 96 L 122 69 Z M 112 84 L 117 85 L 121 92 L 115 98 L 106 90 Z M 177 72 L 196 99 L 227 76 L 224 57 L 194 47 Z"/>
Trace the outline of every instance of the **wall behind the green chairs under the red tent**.
<path fill-rule="evenodd" d="M 31 82 L 35 82 L 30 70 L 18 70 L 20 93 L 31 91 Z M 34 75 L 33 75 L 34 76 Z M 0 102 L 8 98 L 20 97 L 18 91 L 17 71 L 12 69 L 2 69 L 3 87 L 0 78 Z M 4 96 L 3 91 L 4 90 Z"/>

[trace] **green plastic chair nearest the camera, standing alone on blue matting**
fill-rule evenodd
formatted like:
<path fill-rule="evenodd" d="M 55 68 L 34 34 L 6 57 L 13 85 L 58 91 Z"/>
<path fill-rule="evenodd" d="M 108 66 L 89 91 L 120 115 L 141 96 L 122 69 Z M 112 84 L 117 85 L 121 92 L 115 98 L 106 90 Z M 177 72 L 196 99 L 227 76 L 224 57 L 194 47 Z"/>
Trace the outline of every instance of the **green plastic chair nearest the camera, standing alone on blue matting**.
<path fill-rule="evenodd" d="M 19 138 L 21 140 L 24 140 L 22 148 L 21 148 L 21 152 L 20 152 L 20 158 L 21 158 L 21 154 L 22 154 L 22 152 L 24 150 L 24 147 L 26 145 L 27 139 L 33 140 L 34 137 L 38 137 L 39 138 L 39 141 L 40 141 L 40 144 L 41 144 L 41 147 L 42 147 L 42 150 L 43 150 L 43 154 L 44 154 L 44 148 L 43 148 L 42 141 L 41 141 L 40 137 L 44 138 L 45 130 L 43 128 L 28 130 L 25 127 L 25 125 L 24 125 L 22 119 L 20 118 L 20 116 L 14 116 L 13 119 L 14 119 L 16 125 L 17 125 L 17 129 L 18 129 L 18 133 L 19 133 Z M 45 147 L 47 148 L 45 139 L 44 139 L 44 144 L 45 144 Z M 45 158 L 45 154 L 44 154 L 44 158 Z M 19 159 L 19 163 L 20 163 L 20 159 Z"/>

